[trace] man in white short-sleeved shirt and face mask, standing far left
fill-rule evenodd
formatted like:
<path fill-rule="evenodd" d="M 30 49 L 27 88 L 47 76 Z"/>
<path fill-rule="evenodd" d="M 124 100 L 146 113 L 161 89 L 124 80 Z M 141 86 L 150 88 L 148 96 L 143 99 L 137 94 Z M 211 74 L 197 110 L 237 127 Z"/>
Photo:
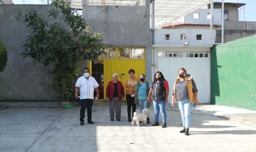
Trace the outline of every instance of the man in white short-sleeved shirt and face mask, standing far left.
<path fill-rule="evenodd" d="M 75 98 L 78 99 L 78 92 L 80 93 L 80 125 L 84 125 L 84 115 L 87 108 L 88 124 L 92 122 L 92 104 L 94 100 L 94 89 L 96 91 L 96 98 L 100 98 L 98 91 L 98 83 L 94 77 L 90 77 L 89 69 L 86 67 L 83 70 L 84 76 L 79 77 L 75 83 Z"/>

